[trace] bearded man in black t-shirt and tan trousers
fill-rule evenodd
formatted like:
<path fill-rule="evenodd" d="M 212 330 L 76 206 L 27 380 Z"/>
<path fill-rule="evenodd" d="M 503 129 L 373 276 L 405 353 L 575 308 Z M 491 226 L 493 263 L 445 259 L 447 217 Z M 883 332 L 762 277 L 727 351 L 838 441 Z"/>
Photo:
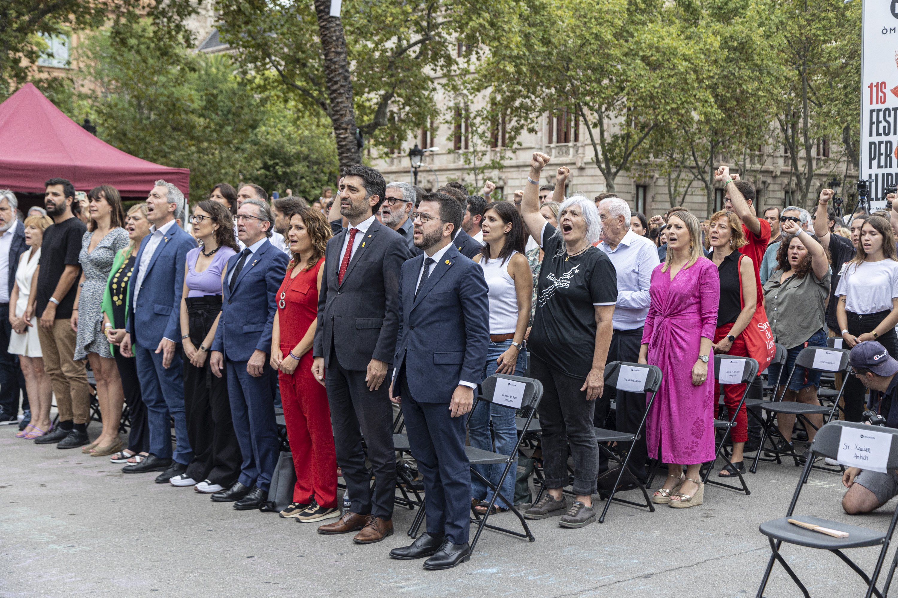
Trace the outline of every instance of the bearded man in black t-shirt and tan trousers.
<path fill-rule="evenodd" d="M 75 218 L 72 204 L 75 187 L 65 178 L 50 178 L 45 185 L 44 207 L 53 224 L 44 230 L 40 245 L 37 290 L 25 313 L 38 316 L 38 338 L 44 368 L 53 385 L 59 410 L 57 429 L 35 440 L 37 444 L 58 442 L 57 448 L 75 448 L 90 443 L 91 394 L 84 361 L 75 361 L 75 330 L 71 317 L 81 276 L 81 241 L 87 227 Z"/>

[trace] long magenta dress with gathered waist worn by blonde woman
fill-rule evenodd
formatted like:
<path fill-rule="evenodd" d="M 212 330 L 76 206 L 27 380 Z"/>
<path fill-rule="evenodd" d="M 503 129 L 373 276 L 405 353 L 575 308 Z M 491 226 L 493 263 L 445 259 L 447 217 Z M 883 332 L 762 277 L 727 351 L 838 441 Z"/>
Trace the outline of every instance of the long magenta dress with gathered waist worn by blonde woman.
<path fill-rule="evenodd" d="M 701 337 L 713 341 L 718 325 L 718 268 L 700 257 L 672 281 L 662 267 L 652 271 L 642 334 L 648 363 L 664 375 L 646 420 L 648 454 L 657 455 L 660 445 L 664 463 L 704 463 L 714 458 L 714 353 L 700 386 L 692 386 L 692 366 L 699 359 Z"/>

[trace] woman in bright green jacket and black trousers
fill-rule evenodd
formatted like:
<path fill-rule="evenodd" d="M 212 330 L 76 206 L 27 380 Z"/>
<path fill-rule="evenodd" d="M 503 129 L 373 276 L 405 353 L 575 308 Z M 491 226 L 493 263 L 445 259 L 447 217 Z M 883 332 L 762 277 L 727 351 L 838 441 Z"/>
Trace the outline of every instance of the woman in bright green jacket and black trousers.
<path fill-rule="evenodd" d="M 119 367 L 121 386 L 125 391 L 125 402 L 128 403 L 128 421 L 131 429 L 128 434 L 128 448 L 112 455 L 112 463 L 140 463 L 148 455 L 150 448 L 149 429 L 146 422 L 146 405 L 140 394 L 140 381 L 137 379 L 137 367 L 133 357 L 124 357 L 119 352 L 119 343 L 125 337 L 125 314 L 131 293 L 128 281 L 134 272 L 140 242 L 150 232 L 150 223 L 146 220 L 146 204 L 137 204 L 128 210 L 125 224 L 131 245 L 125 247 L 115 256 L 110 270 L 106 291 L 103 293 L 103 331 L 110 342 L 110 351 Z"/>

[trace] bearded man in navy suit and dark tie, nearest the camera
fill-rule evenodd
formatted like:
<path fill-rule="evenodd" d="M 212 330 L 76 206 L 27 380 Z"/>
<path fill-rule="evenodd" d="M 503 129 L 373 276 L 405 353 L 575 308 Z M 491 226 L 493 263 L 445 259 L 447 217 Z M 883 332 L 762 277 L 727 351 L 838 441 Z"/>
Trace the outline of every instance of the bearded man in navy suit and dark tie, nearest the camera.
<path fill-rule="evenodd" d="M 427 194 L 415 214 L 424 254 L 402 264 L 400 328 L 393 359 L 394 402 L 402 405 L 411 454 L 424 474 L 427 533 L 394 549 L 428 569 L 471 558 L 471 472 L 464 454 L 465 414 L 483 377 L 489 346 L 489 289 L 479 264 L 452 242 L 464 206 Z"/>

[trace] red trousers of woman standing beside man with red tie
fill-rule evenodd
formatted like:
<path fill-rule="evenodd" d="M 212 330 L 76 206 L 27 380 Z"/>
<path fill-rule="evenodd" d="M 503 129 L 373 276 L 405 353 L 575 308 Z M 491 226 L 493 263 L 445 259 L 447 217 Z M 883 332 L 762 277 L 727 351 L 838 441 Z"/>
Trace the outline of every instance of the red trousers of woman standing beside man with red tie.
<path fill-rule="evenodd" d="M 281 351 L 286 355 L 292 348 Z M 292 375 L 277 374 L 296 469 L 293 499 L 307 503 L 314 498 L 321 507 L 337 507 L 337 451 L 328 394 L 312 375 L 312 361 L 312 351 L 306 351 Z"/>

